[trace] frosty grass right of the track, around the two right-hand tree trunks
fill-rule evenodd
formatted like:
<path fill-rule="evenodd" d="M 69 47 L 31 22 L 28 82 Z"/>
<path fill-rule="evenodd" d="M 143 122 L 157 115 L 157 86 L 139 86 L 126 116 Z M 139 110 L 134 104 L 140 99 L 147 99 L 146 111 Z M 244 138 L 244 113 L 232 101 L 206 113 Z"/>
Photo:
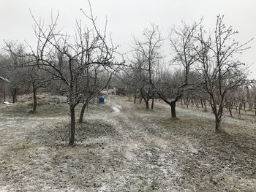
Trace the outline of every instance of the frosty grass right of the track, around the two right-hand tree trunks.
<path fill-rule="evenodd" d="M 162 104 L 161 104 L 162 105 Z M 225 117 L 220 133 L 214 131 L 211 112 L 178 108 L 170 118 L 167 107 L 155 110 L 151 122 L 195 148 L 184 154 L 180 166 L 184 183 L 195 191 L 254 191 L 256 182 L 256 123 Z M 146 114 L 148 112 L 145 112 Z M 191 148 L 191 147 L 190 147 Z M 185 185 L 184 184 L 184 185 Z"/>

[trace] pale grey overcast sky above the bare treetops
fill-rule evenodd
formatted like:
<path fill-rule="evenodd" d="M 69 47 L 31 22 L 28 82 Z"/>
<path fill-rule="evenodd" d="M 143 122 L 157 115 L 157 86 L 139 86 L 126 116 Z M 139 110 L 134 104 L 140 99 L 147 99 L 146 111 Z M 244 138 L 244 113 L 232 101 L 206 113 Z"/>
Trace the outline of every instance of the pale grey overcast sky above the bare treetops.
<path fill-rule="evenodd" d="M 99 26 L 108 18 L 108 31 L 113 34 L 113 42 L 121 46 L 121 52 L 129 51 L 132 34 L 139 38 L 150 23 L 159 25 L 166 35 L 170 27 L 180 25 L 181 20 L 189 23 L 203 17 L 206 28 L 214 28 L 218 14 L 224 14 L 225 24 L 239 31 L 239 41 L 256 36 L 255 0 L 91 0 L 91 4 Z M 29 9 L 36 18 L 45 21 L 49 20 L 51 10 L 59 11 L 59 26 L 71 33 L 76 19 L 88 22 L 80 12 L 80 8 L 87 12 L 88 7 L 87 0 L 0 0 L 0 45 L 3 39 L 33 44 Z M 252 48 L 240 59 L 252 64 L 250 77 L 256 79 L 256 39 L 250 45 Z"/>

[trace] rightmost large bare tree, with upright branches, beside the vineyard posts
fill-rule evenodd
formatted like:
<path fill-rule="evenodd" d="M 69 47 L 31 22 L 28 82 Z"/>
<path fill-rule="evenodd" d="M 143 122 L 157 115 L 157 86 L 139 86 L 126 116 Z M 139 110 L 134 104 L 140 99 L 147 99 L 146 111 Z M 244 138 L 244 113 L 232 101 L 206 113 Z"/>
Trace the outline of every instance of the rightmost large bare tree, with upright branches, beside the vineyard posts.
<path fill-rule="evenodd" d="M 216 131 L 221 127 L 223 109 L 233 91 L 249 83 L 245 64 L 237 61 L 235 56 L 248 49 L 247 45 L 252 41 L 240 44 L 233 39 L 238 31 L 225 26 L 223 19 L 224 16 L 217 16 L 212 37 L 205 37 L 203 27 L 200 29 L 200 46 L 195 49 L 199 55 L 197 72 L 202 78 L 202 91 L 207 93 L 203 95 L 214 112 Z"/>

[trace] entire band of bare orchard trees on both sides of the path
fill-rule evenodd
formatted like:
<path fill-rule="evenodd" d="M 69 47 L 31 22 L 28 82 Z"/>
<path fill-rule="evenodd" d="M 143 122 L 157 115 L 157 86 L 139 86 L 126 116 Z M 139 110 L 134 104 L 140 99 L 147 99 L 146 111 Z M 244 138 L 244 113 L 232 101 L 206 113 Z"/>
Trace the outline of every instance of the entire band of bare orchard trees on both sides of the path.
<path fill-rule="evenodd" d="M 135 93 L 135 100 L 140 93 L 146 109 L 150 101 L 151 109 L 154 108 L 156 98 L 165 101 L 173 118 L 176 118 L 177 102 L 189 94 L 202 105 L 206 106 L 207 102 L 215 116 L 216 131 L 220 129 L 223 110 L 234 101 L 233 93 L 253 83 L 247 79 L 246 65 L 237 60 L 237 55 L 249 48 L 252 39 L 244 44 L 236 41 L 238 31 L 225 26 L 223 16 L 217 16 L 212 33 L 206 32 L 202 20 L 171 28 L 168 39 L 172 57 L 168 64 L 162 55 L 165 40 L 159 27 L 151 25 L 143 31 L 143 39 L 134 38 L 132 56 L 124 64 L 107 35 L 106 26 L 100 31 L 92 11 L 90 15 L 83 14 L 90 24 L 83 26 L 77 21 L 75 34 L 58 29 L 59 15 L 52 16 L 48 26 L 33 17 L 36 47 L 26 45 L 27 49 L 24 45 L 5 42 L 5 54 L 0 56 L 0 75 L 10 80 L 13 102 L 19 88 L 24 87 L 33 92 L 33 112 L 37 109 L 38 88 L 67 96 L 70 145 L 75 142 L 75 107 L 83 104 L 79 119 L 82 123 L 87 104 L 109 85 L 113 75 L 121 77 L 125 86 Z"/>

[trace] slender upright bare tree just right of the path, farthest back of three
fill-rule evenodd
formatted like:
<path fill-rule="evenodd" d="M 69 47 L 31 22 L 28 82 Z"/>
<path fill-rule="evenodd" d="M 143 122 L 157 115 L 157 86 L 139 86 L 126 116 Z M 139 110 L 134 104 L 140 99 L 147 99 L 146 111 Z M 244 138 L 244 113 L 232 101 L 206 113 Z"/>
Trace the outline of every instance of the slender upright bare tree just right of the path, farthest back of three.
<path fill-rule="evenodd" d="M 143 31 L 143 41 L 134 39 L 134 60 L 132 68 L 135 68 L 135 79 L 140 82 L 140 95 L 146 103 L 146 109 L 149 109 L 149 100 L 154 98 L 156 89 L 154 88 L 154 78 L 156 77 L 157 67 L 162 58 L 161 47 L 162 37 L 158 26 L 154 24 L 151 28 Z M 153 108 L 152 103 L 152 107 Z"/>

